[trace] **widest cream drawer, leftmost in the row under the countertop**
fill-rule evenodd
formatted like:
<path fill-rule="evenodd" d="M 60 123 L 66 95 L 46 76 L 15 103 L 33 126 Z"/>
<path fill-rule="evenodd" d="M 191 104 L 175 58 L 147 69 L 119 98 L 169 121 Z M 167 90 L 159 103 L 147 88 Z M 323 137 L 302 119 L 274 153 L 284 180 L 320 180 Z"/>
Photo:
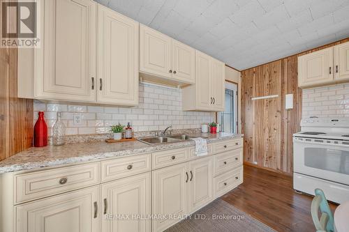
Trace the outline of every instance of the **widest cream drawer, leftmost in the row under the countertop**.
<path fill-rule="evenodd" d="M 99 183 L 99 163 L 15 176 L 15 202 L 29 201 Z"/>

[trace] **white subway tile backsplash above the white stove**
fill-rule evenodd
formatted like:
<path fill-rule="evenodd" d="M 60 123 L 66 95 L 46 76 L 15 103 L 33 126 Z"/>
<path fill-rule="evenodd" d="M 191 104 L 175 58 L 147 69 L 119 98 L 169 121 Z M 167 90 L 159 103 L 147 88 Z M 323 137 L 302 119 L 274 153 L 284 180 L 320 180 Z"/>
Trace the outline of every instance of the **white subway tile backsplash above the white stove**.
<path fill-rule="evenodd" d="M 302 117 L 348 117 L 349 84 L 303 90 Z"/>

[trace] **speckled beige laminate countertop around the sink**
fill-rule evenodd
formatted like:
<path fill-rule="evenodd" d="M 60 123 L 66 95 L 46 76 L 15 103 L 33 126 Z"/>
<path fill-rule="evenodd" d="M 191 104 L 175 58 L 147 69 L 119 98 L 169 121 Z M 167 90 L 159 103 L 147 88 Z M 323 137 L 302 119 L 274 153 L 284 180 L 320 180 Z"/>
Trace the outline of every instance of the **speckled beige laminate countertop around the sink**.
<path fill-rule="evenodd" d="M 193 135 L 193 134 L 191 134 Z M 208 137 L 207 143 L 223 139 L 242 137 L 242 134 L 195 134 L 197 137 Z M 63 146 L 46 146 L 44 148 L 29 148 L 0 162 L 0 173 L 53 167 L 77 162 L 97 161 L 104 158 L 124 155 L 151 153 L 158 150 L 194 146 L 193 140 L 179 141 L 169 144 L 147 145 L 141 141 L 128 141 L 107 144 L 105 141 Z"/>

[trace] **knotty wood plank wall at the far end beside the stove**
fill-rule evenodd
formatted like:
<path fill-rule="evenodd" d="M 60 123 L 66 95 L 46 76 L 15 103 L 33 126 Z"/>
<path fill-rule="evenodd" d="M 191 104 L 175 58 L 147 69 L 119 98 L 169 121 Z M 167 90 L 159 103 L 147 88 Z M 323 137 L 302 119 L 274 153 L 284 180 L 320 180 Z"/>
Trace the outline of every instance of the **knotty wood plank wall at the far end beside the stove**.
<path fill-rule="evenodd" d="M 299 130 L 302 117 L 297 57 L 348 41 L 349 38 L 242 71 L 241 114 L 246 164 L 292 173 L 292 134 Z M 285 94 L 290 93 L 293 109 L 285 110 Z M 276 94 L 279 98 L 251 100 Z"/>

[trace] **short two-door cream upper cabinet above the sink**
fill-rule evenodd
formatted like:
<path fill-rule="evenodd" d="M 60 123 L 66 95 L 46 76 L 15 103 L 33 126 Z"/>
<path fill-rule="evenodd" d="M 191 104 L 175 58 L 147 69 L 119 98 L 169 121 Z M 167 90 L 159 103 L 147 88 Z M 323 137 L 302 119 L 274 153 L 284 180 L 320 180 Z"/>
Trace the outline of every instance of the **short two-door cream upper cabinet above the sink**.
<path fill-rule="evenodd" d="M 140 24 L 140 72 L 151 82 L 195 83 L 195 49 Z"/>

